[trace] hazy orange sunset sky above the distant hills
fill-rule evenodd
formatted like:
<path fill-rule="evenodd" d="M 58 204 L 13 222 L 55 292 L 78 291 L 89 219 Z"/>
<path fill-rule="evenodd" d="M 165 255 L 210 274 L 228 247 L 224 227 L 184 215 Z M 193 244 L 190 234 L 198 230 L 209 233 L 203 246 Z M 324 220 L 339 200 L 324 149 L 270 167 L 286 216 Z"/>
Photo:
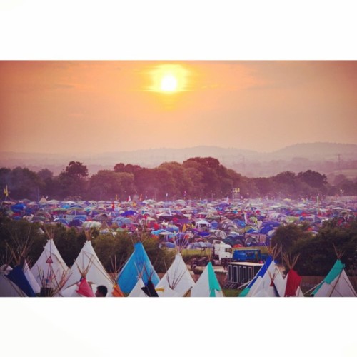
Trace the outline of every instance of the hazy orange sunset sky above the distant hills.
<path fill-rule="evenodd" d="M 357 61 L 0 61 L 0 78 L 0 151 L 357 144 Z"/>

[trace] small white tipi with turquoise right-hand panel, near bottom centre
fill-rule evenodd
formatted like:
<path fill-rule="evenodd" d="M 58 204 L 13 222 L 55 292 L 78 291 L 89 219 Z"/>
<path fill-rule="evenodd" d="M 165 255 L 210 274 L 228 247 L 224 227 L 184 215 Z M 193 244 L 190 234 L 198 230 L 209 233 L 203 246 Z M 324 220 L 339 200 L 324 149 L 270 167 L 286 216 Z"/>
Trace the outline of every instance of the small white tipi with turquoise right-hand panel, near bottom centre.
<path fill-rule="evenodd" d="M 220 298 L 223 297 L 223 291 L 214 273 L 211 261 L 207 264 L 201 276 L 198 278 L 195 286 L 191 289 L 193 298 Z"/>

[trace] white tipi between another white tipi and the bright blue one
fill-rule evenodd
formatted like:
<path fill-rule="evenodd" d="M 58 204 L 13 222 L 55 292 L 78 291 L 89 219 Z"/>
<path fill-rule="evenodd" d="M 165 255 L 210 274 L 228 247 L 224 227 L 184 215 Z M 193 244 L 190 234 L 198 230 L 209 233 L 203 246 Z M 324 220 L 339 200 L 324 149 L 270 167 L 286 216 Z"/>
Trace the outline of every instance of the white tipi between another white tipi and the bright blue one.
<path fill-rule="evenodd" d="M 71 270 L 69 271 L 69 278 L 64 284 L 64 288 L 62 290 L 78 283 L 81 280 L 81 272 L 83 271 L 86 271 L 87 281 L 94 283 L 97 286 L 106 286 L 106 288 L 108 288 L 107 296 L 112 296 L 111 291 L 114 285 L 114 281 L 106 272 L 102 263 L 99 261 L 99 258 L 96 255 L 93 246 L 91 245 L 91 241 L 89 240 L 84 243 L 84 246 L 77 256 L 76 261 L 71 266 Z"/>

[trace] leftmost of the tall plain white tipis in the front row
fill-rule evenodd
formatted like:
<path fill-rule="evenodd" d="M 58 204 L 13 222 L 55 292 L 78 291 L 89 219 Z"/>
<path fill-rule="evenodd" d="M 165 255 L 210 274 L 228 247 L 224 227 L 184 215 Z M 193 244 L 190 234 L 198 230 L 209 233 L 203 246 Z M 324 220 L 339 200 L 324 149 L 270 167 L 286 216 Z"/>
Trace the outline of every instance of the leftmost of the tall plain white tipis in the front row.
<path fill-rule="evenodd" d="M 61 254 L 56 248 L 53 239 L 49 239 L 44 251 L 30 269 L 39 286 L 43 288 L 57 288 L 69 267 L 64 263 Z"/>

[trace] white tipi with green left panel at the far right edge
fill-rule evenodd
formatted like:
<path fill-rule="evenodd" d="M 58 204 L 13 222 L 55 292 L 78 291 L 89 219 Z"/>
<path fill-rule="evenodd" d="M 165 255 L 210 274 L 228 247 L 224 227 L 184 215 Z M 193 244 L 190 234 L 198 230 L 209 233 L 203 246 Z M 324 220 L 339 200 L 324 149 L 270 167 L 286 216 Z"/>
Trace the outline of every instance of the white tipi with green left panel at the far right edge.
<path fill-rule="evenodd" d="M 350 279 L 348 278 L 345 265 L 340 259 L 331 268 L 326 278 L 316 286 L 311 296 L 316 297 L 349 297 L 357 296 Z"/>

